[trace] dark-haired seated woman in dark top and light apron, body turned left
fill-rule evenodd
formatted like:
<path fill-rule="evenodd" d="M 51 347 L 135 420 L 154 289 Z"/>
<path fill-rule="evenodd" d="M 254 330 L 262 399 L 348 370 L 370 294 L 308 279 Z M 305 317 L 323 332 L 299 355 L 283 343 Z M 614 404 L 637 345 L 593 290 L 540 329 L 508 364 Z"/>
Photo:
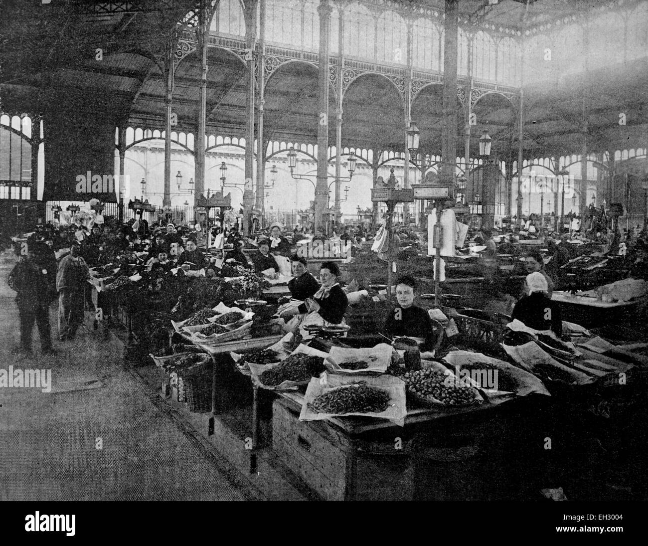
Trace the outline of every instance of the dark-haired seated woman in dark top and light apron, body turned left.
<path fill-rule="evenodd" d="M 340 326 L 344 325 L 344 313 L 349 307 L 349 300 L 338 283 L 340 269 L 332 261 L 325 261 L 319 270 L 321 287 L 312 298 L 299 305 L 299 313 L 308 313 L 299 327 L 304 339 L 312 338 L 305 326 Z"/>

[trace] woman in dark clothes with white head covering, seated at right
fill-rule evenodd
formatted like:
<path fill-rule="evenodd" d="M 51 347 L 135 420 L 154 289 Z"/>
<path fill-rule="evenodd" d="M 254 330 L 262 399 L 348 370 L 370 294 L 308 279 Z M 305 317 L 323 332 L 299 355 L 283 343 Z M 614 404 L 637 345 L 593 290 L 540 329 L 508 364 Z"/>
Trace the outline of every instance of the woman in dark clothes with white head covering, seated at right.
<path fill-rule="evenodd" d="M 561 308 L 552 302 L 547 295 L 547 281 L 541 272 L 527 275 L 524 281 L 526 296 L 515 304 L 511 318 L 523 322 L 534 330 L 552 330 L 558 337 L 562 336 Z"/>

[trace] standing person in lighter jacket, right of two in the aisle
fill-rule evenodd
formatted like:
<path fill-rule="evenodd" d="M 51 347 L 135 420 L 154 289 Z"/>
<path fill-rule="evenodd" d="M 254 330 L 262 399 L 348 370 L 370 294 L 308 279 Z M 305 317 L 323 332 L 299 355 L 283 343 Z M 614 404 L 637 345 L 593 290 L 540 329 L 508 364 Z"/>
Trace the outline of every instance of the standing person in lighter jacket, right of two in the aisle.
<path fill-rule="evenodd" d="M 80 250 L 80 244 L 73 243 L 70 254 L 61 260 L 56 273 L 58 337 L 61 341 L 73 338 L 83 322 L 86 280 L 90 274 L 86 261 L 79 255 Z"/>

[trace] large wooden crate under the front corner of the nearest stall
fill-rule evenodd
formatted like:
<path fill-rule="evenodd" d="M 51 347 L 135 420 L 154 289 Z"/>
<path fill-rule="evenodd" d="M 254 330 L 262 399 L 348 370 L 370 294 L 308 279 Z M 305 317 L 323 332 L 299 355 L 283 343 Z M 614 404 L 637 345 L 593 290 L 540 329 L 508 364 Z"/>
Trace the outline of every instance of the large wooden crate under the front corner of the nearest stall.
<path fill-rule="evenodd" d="M 412 499 L 410 455 L 393 449 L 391 440 L 372 444 L 351 438 L 326 421 L 299 421 L 294 405 L 282 399 L 273 403 L 272 423 L 277 457 L 323 499 Z"/>

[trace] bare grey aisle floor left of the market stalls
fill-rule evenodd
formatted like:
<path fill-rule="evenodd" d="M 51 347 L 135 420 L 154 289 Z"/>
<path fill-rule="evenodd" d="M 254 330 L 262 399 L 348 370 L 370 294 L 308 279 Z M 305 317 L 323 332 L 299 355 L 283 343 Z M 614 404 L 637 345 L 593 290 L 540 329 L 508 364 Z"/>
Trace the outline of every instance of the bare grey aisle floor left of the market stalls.
<path fill-rule="evenodd" d="M 12 354 L 19 322 L 6 278 L 15 261 L 0 255 L 0 369 L 49 368 L 53 386 L 49 393 L 0 387 L 0 499 L 244 500 L 209 455 L 146 398 L 101 329 L 82 327 L 75 340 L 58 342 L 52 305 L 58 355 L 40 355 L 35 326 L 34 359 Z M 94 385 L 102 386 L 87 388 Z"/>

